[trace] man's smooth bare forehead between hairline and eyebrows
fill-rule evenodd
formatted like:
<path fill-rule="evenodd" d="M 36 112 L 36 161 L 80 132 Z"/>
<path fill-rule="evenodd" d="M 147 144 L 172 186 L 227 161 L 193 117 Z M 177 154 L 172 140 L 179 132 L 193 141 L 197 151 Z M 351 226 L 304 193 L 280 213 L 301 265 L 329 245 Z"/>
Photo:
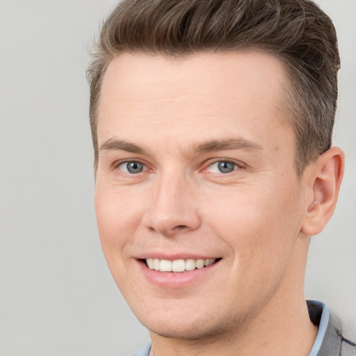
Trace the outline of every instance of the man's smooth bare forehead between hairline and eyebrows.
<path fill-rule="evenodd" d="M 280 60 L 257 51 L 122 54 L 104 75 L 98 140 L 159 134 L 188 143 L 197 134 L 209 140 L 230 132 L 252 139 L 254 131 L 280 129 L 284 81 Z"/>

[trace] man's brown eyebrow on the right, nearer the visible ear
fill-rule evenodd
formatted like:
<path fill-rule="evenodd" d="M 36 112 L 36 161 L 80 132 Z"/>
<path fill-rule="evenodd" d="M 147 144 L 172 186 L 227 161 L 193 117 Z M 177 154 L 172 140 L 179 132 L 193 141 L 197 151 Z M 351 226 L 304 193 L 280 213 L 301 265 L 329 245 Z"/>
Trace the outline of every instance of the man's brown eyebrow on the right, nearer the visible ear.
<path fill-rule="evenodd" d="M 232 149 L 245 149 L 247 151 L 261 151 L 262 147 L 245 138 L 230 138 L 227 140 L 211 140 L 195 145 L 193 152 L 225 151 Z"/>

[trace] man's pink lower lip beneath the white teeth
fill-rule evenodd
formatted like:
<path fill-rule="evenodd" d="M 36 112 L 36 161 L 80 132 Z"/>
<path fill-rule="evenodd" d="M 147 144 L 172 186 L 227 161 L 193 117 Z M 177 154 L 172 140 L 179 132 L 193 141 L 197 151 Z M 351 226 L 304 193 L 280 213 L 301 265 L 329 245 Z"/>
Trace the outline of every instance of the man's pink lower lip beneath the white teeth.
<path fill-rule="evenodd" d="M 195 268 L 195 270 L 184 272 L 160 272 L 159 270 L 149 269 L 143 261 L 138 261 L 138 264 L 143 275 L 152 284 L 170 289 L 181 289 L 210 274 L 220 264 L 220 261 L 204 268 Z"/>

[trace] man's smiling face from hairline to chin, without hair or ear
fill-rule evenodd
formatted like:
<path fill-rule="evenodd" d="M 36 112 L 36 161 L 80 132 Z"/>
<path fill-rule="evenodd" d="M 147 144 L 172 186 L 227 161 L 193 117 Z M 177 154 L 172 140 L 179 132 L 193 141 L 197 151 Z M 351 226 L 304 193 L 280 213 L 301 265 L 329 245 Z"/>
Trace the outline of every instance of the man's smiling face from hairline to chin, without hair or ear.
<path fill-rule="evenodd" d="M 108 66 L 97 223 L 115 282 L 149 330 L 224 332 L 302 293 L 305 194 L 284 80 L 280 62 L 257 52 L 122 54 Z"/>

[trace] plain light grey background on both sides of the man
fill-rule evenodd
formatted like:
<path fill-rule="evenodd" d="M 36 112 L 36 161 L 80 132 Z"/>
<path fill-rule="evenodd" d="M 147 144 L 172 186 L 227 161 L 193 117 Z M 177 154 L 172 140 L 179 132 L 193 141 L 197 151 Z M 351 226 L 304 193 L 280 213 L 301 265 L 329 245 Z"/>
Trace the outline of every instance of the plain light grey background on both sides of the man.
<path fill-rule="evenodd" d="M 148 339 L 99 245 L 87 47 L 115 1 L 0 0 L 0 355 L 129 355 Z M 320 0 L 342 57 L 339 204 L 313 238 L 306 296 L 356 320 L 356 1 Z"/>

